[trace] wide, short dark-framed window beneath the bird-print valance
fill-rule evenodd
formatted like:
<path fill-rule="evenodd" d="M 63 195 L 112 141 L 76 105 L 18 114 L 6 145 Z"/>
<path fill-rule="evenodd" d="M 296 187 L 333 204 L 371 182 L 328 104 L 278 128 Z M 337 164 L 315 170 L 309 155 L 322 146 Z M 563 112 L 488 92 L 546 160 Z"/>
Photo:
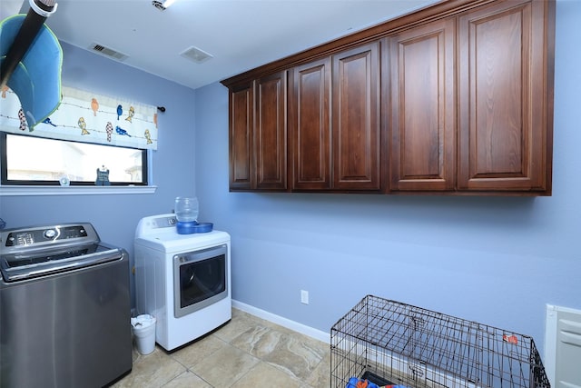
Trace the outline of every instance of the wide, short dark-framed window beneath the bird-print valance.
<path fill-rule="evenodd" d="M 147 185 L 147 151 L 0 133 L 3 185 Z M 98 172 L 102 170 L 103 173 Z"/>

